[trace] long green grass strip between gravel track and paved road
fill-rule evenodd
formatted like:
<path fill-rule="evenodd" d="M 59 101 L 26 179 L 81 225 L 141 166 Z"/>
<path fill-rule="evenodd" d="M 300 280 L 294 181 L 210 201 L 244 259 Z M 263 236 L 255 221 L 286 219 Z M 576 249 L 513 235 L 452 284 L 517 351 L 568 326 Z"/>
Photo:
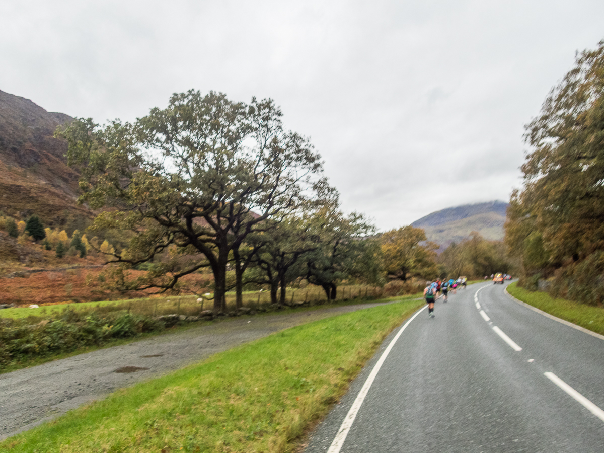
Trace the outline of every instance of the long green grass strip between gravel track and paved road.
<path fill-rule="evenodd" d="M 406 300 L 293 327 L 0 442 L 11 452 L 286 452 L 345 393 Z"/>

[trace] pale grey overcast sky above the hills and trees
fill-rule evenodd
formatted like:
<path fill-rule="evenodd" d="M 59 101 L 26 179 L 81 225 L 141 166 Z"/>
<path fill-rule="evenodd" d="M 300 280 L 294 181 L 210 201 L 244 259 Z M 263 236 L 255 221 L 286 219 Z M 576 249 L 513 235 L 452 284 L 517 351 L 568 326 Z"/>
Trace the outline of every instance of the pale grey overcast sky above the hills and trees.
<path fill-rule="evenodd" d="M 524 124 L 601 39 L 602 0 L 2 1 L 0 89 L 97 123 L 271 97 L 384 231 L 509 201 Z"/>

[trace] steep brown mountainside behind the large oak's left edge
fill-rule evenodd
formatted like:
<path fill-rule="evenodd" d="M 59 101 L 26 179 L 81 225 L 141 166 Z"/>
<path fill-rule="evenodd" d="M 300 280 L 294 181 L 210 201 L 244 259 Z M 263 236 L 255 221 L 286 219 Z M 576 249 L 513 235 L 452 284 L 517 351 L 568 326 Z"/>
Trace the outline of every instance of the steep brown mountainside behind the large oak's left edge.
<path fill-rule="evenodd" d="M 66 165 L 67 145 L 53 138 L 57 126 L 72 119 L 0 91 L 0 211 L 36 213 L 50 225 L 89 216 L 76 204 L 79 175 Z"/>

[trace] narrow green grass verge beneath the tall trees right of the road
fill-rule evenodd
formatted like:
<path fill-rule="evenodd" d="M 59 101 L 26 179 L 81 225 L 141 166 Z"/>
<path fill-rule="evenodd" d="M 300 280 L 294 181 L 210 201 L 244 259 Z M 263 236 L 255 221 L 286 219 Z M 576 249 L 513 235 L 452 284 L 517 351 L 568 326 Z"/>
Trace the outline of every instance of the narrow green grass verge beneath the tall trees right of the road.
<path fill-rule="evenodd" d="M 513 297 L 550 313 L 550 315 L 604 335 L 604 308 L 602 307 L 594 307 L 561 298 L 554 299 L 547 292 L 533 292 L 520 288 L 516 282 L 510 284 L 507 291 Z"/>

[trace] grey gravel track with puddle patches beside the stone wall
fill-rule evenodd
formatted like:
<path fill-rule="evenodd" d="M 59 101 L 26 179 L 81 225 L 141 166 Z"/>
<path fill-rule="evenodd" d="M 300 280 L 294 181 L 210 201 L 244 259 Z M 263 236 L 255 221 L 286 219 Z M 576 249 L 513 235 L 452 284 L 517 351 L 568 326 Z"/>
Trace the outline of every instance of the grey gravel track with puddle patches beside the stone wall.
<path fill-rule="evenodd" d="M 237 318 L 0 374 L 0 440 L 238 344 L 376 305 Z"/>

